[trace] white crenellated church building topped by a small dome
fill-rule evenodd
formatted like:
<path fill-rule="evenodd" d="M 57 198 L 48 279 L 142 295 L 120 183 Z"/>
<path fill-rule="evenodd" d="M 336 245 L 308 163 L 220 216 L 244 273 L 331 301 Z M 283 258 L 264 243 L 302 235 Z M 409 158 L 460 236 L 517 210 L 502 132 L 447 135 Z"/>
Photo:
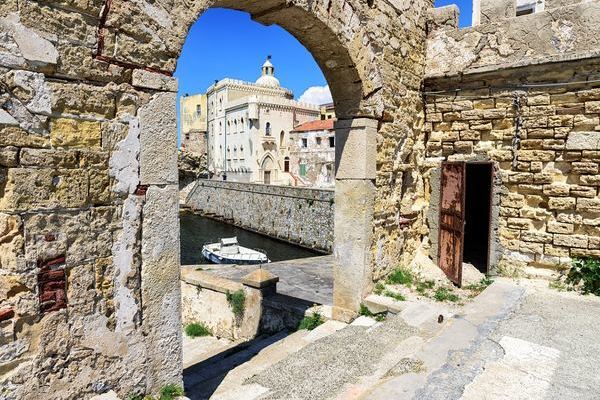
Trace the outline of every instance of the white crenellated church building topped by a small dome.
<path fill-rule="evenodd" d="M 319 119 L 320 107 L 294 100 L 275 77 L 271 57 L 256 82 L 216 81 L 208 88 L 206 152 L 212 179 L 304 186 L 290 168 L 294 128 Z"/>

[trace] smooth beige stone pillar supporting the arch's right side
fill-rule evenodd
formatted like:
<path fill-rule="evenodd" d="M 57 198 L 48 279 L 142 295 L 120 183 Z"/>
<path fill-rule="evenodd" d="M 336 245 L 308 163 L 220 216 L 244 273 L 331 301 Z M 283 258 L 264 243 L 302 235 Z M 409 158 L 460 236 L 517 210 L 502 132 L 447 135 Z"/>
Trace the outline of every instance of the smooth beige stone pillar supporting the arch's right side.
<path fill-rule="evenodd" d="M 378 121 L 335 123 L 333 318 L 356 315 L 370 289 Z"/>

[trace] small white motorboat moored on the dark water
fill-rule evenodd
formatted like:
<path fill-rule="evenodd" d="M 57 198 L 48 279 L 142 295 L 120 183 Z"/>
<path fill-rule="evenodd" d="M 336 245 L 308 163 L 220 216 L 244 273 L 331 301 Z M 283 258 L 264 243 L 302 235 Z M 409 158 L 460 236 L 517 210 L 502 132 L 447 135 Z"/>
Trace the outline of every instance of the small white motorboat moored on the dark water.
<path fill-rule="evenodd" d="M 202 255 L 215 264 L 265 264 L 271 262 L 258 250 L 240 246 L 237 237 L 223 238 L 219 243 L 202 246 Z"/>

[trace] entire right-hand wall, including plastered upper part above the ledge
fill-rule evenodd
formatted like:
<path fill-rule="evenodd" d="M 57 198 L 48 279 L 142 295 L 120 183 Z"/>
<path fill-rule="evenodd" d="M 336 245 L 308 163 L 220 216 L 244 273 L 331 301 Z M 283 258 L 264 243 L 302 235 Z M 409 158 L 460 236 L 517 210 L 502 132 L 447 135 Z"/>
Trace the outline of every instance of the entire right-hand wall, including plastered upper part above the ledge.
<path fill-rule="evenodd" d="M 434 261 L 444 160 L 494 164 L 492 272 L 600 257 L 600 3 L 579 3 L 460 30 L 454 7 L 433 10 L 420 175 Z"/>

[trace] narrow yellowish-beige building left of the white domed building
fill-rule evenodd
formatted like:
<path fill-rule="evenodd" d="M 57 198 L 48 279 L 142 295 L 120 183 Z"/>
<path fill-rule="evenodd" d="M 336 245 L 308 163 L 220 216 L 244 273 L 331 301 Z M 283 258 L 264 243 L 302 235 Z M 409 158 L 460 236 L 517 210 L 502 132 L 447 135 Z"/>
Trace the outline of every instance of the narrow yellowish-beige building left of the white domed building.
<path fill-rule="evenodd" d="M 199 156 L 206 153 L 206 115 L 205 94 L 186 94 L 179 98 L 182 151 Z"/>

